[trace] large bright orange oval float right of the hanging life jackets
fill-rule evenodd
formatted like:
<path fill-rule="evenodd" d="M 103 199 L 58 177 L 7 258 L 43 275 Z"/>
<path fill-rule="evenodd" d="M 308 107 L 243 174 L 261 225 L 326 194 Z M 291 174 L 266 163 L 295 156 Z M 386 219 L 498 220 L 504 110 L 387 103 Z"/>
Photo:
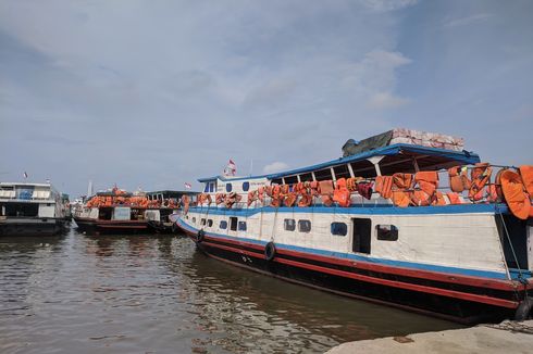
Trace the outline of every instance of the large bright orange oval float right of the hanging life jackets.
<path fill-rule="evenodd" d="M 528 219 L 531 203 L 520 175 L 509 169 L 504 172 L 501 174 L 501 190 L 512 215 L 522 220 Z"/>

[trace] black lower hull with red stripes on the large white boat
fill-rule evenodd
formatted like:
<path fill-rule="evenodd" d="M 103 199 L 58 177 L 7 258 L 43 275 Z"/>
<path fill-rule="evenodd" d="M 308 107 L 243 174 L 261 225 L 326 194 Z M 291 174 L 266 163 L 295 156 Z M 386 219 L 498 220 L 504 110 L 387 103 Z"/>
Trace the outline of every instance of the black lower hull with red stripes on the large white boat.
<path fill-rule="evenodd" d="M 512 318 L 520 295 L 507 280 L 460 279 L 416 275 L 418 270 L 359 267 L 351 261 L 277 250 L 268 261 L 264 245 L 210 237 L 198 242 L 195 230 L 182 227 L 199 250 L 209 256 L 292 282 L 340 295 L 472 324 Z M 351 264 L 350 264 L 351 263 Z M 391 269 L 389 269 L 391 270 Z M 531 295 L 530 289 L 530 295 Z"/>

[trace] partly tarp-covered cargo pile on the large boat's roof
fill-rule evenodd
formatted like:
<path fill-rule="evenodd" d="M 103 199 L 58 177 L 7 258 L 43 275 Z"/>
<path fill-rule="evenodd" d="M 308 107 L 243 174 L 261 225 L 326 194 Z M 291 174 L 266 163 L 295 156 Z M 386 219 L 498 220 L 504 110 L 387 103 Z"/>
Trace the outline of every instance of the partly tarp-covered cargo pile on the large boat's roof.
<path fill-rule="evenodd" d="M 359 142 L 348 140 L 343 146 L 343 157 L 351 156 L 364 151 L 393 146 L 395 143 L 407 143 L 427 148 L 437 148 L 453 151 L 462 151 L 464 139 L 438 132 L 419 131 L 396 128 L 376 136 L 363 139 Z"/>

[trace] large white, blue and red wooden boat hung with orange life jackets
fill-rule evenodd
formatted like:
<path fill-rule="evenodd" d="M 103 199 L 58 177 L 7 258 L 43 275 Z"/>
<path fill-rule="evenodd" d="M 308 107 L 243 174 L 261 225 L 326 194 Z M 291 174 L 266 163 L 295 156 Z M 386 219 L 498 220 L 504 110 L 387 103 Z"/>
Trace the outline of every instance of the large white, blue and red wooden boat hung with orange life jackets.
<path fill-rule="evenodd" d="M 338 294 L 462 323 L 531 314 L 531 166 L 481 164 L 462 139 L 405 129 L 344 151 L 201 178 L 176 224 L 214 258 Z"/>

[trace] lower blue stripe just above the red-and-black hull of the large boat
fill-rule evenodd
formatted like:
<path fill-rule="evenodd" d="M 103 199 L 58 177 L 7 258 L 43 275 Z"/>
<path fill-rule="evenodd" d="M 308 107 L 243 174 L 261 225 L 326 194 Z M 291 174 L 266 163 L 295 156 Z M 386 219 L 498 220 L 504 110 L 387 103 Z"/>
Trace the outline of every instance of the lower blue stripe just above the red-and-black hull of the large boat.
<path fill-rule="evenodd" d="M 184 224 L 181 219 L 177 222 L 177 224 L 179 227 L 188 230 L 189 232 L 198 232 L 197 228 Z M 248 243 L 255 243 L 261 245 L 265 245 L 268 243 L 266 241 L 251 240 L 248 238 L 234 237 L 234 236 L 221 235 L 214 232 L 206 232 L 206 235 L 219 239 L 231 239 L 235 241 L 248 242 Z M 411 269 L 429 270 L 429 271 L 444 273 L 450 275 L 456 274 L 456 275 L 464 275 L 464 276 L 489 278 L 489 279 L 508 279 L 506 273 L 499 273 L 499 271 L 467 269 L 467 268 L 439 266 L 439 265 L 431 265 L 431 264 L 423 264 L 423 263 L 374 258 L 374 257 L 367 257 L 358 254 L 317 250 L 317 249 L 310 249 L 310 248 L 303 248 L 299 245 L 290 245 L 284 243 L 276 243 L 276 248 L 285 249 L 289 251 L 302 252 L 302 253 L 310 253 L 315 255 L 336 257 L 336 258 L 347 258 L 347 260 L 354 260 L 360 262 L 374 263 L 374 264 L 386 265 L 391 267 L 411 268 Z"/>

